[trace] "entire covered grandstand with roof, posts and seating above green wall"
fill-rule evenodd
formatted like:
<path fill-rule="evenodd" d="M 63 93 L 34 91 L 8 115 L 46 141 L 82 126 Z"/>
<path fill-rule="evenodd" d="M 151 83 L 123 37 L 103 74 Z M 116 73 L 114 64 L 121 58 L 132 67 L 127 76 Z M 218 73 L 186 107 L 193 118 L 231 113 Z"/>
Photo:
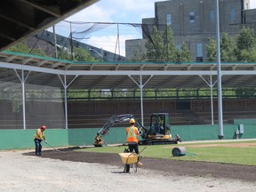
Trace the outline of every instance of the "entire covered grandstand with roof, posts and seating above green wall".
<path fill-rule="evenodd" d="M 216 68 L 214 63 L 119 62 L 102 65 L 13 52 L 2 52 L 0 58 L 1 97 L 4 107 L 0 114 L 2 129 L 34 129 L 36 125 L 43 123 L 60 129 L 99 128 L 109 116 L 127 113 L 138 116 L 138 119 L 148 124 L 148 116 L 154 112 L 170 113 L 172 125 L 217 124 L 218 122 L 216 95 L 212 100 L 212 106 L 211 95 L 204 100 L 198 100 L 198 95 L 197 100 L 195 97 L 173 98 L 171 96 L 165 96 L 162 99 L 161 97 L 140 99 L 140 78 L 145 86 L 145 92 L 156 87 L 177 89 L 180 84 L 182 88 L 204 86 L 206 90 L 210 90 L 204 80 L 216 76 L 216 72 L 214 74 L 212 71 Z M 240 86 L 243 80 L 250 81 L 250 84 L 247 83 L 244 87 L 252 88 L 252 79 L 255 76 L 252 68 L 254 67 L 253 63 L 223 64 L 223 84 L 228 82 L 228 87 L 236 87 Z M 113 71 L 114 68 L 115 71 Z M 23 85 L 26 88 L 25 95 L 22 91 Z M 87 97 L 66 98 L 67 88 L 68 92 L 80 90 L 80 93 L 84 89 Z M 122 90 L 123 92 L 137 90 L 137 93 L 132 94 L 138 96 L 134 95 L 128 99 L 129 97 L 117 94 L 118 96 L 115 97 L 113 91 L 111 92 L 113 88 L 116 88 L 117 93 Z M 95 94 L 97 90 L 101 92 L 100 96 L 91 97 L 90 95 Z M 102 90 L 107 92 L 107 97 L 106 92 L 102 94 Z M 141 91 L 143 92 L 143 88 Z M 79 92 L 76 95 L 79 95 Z M 23 96 L 26 96 L 25 103 L 22 100 Z M 223 101 L 225 124 L 232 124 L 234 119 L 253 118 L 256 115 L 253 99 L 237 100 L 234 96 L 232 97 Z"/>

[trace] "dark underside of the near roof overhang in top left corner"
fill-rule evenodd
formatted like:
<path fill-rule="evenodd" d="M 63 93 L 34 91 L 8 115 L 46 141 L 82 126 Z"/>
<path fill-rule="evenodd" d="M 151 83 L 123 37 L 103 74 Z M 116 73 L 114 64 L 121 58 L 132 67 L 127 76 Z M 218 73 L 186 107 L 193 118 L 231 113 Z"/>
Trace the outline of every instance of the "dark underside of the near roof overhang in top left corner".
<path fill-rule="evenodd" d="M 0 1 L 0 51 L 36 35 L 98 0 Z"/>

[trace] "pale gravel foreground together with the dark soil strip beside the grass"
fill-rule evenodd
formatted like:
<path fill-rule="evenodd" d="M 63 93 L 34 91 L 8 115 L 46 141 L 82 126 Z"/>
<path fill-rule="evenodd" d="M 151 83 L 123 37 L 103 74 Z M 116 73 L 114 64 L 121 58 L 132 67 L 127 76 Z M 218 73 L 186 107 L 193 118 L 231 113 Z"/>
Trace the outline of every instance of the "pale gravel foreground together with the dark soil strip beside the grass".
<path fill-rule="evenodd" d="M 252 192 L 256 168 L 144 158 L 138 172 L 124 173 L 116 154 L 74 148 L 0 151 L 0 191 L 4 192 Z"/>

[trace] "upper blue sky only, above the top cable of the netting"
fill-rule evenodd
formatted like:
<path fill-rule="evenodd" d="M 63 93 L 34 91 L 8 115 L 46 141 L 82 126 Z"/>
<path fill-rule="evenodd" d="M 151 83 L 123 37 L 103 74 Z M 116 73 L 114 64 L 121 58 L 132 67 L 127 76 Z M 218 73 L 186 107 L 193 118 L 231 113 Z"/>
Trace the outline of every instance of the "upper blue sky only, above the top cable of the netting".
<path fill-rule="evenodd" d="M 67 20 L 92 22 L 141 23 L 142 18 L 155 16 L 155 2 L 163 0 L 100 0 Z M 250 1 L 256 8 L 256 0 Z"/>

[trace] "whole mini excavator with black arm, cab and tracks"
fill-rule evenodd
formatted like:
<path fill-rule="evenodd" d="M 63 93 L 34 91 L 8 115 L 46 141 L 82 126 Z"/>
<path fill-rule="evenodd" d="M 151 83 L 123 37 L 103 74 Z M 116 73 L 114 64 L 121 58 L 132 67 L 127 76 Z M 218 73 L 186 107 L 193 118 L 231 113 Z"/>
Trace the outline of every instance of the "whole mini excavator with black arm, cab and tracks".
<path fill-rule="evenodd" d="M 139 145 L 157 145 L 157 144 L 177 144 L 181 142 L 180 136 L 177 134 L 175 138 L 172 138 L 171 126 L 169 124 L 168 113 L 153 113 L 150 117 L 150 125 L 148 128 L 143 126 L 140 121 L 132 114 L 125 114 L 120 116 L 111 116 L 108 122 L 97 132 L 95 137 L 95 147 L 106 147 L 107 144 L 102 137 L 108 133 L 109 129 L 116 123 L 129 122 L 129 120 L 135 119 L 135 126 L 140 131 Z"/>

